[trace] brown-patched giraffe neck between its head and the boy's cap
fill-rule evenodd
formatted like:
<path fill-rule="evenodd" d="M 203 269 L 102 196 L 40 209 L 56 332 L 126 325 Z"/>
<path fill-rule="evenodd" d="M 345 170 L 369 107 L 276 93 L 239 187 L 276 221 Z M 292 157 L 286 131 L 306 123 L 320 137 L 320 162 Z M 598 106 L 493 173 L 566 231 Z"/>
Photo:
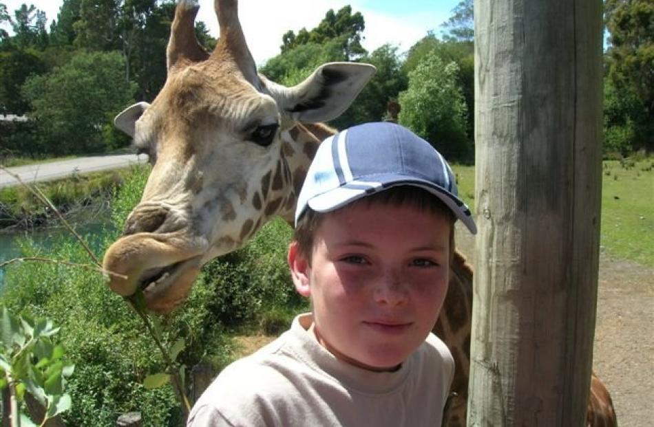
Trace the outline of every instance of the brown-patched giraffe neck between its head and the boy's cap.
<path fill-rule="evenodd" d="M 325 138 L 335 133 L 335 129 L 321 123 L 297 123 L 288 131 L 282 132 L 282 157 L 291 173 L 293 188 L 288 203 L 283 210 L 277 212 L 277 215 L 291 225 L 295 221 L 297 195 L 318 146 Z"/>

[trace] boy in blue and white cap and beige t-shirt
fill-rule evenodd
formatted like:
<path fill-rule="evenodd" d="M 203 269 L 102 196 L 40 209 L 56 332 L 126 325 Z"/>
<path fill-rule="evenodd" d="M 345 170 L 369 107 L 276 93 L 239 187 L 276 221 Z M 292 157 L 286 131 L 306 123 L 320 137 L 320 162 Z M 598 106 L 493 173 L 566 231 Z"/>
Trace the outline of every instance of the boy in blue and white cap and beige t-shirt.
<path fill-rule="evenodd" d="M 297 201 L 288 264 L 312 312 L 228 366 L 188 426 L 437 426 L 454 361 L 430 333 L 454 221 L 476 232 L 443 157 L 368 123 L 325 140 Z"/>

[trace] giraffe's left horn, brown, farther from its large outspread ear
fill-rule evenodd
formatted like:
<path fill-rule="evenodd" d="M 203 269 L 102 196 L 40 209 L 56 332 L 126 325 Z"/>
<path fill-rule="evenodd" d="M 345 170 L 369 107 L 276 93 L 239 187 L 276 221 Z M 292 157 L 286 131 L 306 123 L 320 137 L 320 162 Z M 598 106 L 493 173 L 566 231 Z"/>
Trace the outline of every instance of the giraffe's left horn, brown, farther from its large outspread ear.
<path fill-rule="evenodd" d="M 200 5 L 196 0 L 179 0 L 177 3 L 166 51 L 166 65 L 169 72 L 173 67 L 209 58 L 209 54 L 198 42 L 194 31 L 199 9 Z"/>

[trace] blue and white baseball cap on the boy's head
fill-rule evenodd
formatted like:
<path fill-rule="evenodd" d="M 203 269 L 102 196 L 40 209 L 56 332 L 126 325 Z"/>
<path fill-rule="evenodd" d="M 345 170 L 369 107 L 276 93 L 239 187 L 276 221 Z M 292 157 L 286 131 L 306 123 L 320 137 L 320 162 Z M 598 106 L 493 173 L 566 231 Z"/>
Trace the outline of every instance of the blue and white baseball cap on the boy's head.
<path fill-rule="evenodd" d="M 476 234 L 470 209 L 458 198 L 450 165 L 429 142 L 390 122 L 360 124 L 320 144 L 297 198 L 295 224 L 307 207 L 330 212 L 405 185 L 428 190 Z"/>

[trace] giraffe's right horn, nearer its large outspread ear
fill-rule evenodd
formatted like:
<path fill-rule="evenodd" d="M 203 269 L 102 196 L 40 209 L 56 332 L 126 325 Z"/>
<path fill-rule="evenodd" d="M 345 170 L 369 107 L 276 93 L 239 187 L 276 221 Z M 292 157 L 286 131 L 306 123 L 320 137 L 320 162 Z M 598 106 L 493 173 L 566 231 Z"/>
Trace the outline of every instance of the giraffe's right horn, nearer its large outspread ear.
<path fill-rule="evenodd" d="M 213 51 L 214 54 L 229 52 L 245 78 L 254 82 L 257 78 L 257 67 L 238 20 L 238 0 L 214 0 L 213 7 L 220 28 L 220 40 Z"/>

